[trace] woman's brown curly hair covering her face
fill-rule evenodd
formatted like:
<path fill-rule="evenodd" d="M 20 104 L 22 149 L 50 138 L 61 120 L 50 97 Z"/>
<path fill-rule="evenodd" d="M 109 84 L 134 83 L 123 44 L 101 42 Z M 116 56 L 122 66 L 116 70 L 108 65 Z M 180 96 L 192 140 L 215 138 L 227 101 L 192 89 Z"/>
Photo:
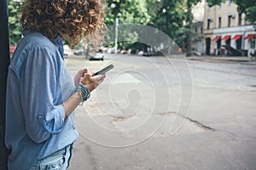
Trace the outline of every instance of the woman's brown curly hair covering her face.
<path fill-rule="evenodd" d="M 26 0 L 20 25 L 45 37 L 60 36 L 68 45 L 82 38 L 97 48 L 104 36 L 105 1 L 101 0 Z"/>

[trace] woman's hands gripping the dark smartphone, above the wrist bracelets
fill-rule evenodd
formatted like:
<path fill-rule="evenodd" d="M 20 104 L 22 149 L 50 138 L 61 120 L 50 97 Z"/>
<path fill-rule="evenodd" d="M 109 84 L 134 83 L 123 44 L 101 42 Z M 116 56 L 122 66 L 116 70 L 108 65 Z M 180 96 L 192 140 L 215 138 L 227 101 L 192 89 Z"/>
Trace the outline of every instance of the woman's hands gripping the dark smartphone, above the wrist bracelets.
<path fill-rule="evenodd" d="M 84 69 L 81 77 L 81 83 L 83 83 L 91 92 L 104 81 L 105 77 L 106 75 L 94 76 L 94 73 L 88 73 L 88 69 Z"/>

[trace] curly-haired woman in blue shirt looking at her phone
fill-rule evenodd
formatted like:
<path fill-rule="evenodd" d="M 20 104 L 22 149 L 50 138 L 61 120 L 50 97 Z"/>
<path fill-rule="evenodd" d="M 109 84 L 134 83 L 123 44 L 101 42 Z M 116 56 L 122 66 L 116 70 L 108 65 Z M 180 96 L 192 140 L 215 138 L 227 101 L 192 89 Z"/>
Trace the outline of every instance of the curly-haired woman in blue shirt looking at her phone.
<path fill-rule="evenodd" d="M 100 0 L 26 0 L 20 40 L 9 65 L 6 139 L 9 169 L 67 169 L 79 134 L 73 111 L 103 80 L 87 69 L 72 79 L 62 39 L 98 47 L 103 35 Z"/>

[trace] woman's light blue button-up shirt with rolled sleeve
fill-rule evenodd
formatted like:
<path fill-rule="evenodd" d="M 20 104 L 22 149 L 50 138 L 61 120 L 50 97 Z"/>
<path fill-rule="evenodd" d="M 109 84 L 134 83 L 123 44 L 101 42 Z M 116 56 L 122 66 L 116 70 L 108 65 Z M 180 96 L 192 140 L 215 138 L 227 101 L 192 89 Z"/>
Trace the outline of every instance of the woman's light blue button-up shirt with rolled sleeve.
<path fill-rule="evenodd" d="M 35 161 L 72 144 L 79 133 L 65 102 L 75 92 L 60 37 L 49 40 L 25 31 L 9 65 L 6 136 L 9 170 L 28 170 Z"/>

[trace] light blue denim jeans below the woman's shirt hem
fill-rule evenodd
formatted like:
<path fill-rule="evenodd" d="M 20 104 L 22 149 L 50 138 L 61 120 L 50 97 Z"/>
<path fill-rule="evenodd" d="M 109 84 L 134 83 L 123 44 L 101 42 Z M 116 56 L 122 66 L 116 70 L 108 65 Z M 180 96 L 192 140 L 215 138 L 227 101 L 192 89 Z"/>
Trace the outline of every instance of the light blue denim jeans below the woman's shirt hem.
<path fill-rule="evenodd" d="M 55 153 L 38 160 L 30 170 L 66 170 L 72 156 L 73 144 L 55 151 Z"/>

